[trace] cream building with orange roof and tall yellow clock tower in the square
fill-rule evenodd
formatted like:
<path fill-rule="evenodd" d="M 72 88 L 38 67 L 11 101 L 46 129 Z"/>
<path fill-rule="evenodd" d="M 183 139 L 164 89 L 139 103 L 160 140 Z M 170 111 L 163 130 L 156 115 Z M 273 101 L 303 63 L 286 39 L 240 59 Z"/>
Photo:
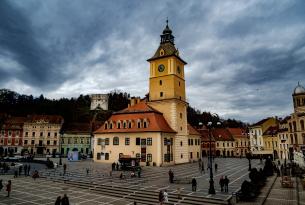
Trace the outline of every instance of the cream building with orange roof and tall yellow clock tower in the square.
<path fill-rule="evenodd" d="M 149 95 L 131 99 L 96 132 L 94 160 L 113 163 L 120 156 L 153 165 L 200 158 L 200 134 L 187 124 L 184 66 L 168 23 L 150 63 Z M 191 142 L 193 144 L 191 145 Z"/>

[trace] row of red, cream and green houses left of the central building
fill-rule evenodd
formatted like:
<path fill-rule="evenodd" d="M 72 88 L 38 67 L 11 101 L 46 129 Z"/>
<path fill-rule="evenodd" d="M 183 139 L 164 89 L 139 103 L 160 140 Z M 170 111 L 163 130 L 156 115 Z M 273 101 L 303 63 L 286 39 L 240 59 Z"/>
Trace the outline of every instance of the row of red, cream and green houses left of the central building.
<path fill-rule="evenodd" d="M 64 124 L 59 115 L 10 116 L 0 129 L 0 149 L 5 153 L 66 155 L 69 151 L 91 152 L 91 123 Z"/>

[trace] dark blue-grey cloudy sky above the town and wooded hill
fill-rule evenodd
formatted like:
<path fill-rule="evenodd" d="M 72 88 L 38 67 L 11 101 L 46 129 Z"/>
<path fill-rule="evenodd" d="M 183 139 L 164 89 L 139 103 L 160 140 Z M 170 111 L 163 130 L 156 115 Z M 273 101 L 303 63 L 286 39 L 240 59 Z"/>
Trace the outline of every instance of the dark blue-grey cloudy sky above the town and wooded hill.
<path fill-rule="evenodd" d="M 166 17 L 191 106 L 247 122 L 292 112 L 305 84 L 302 0 L 1 0 L 0 88 L 143 97 Z"/>

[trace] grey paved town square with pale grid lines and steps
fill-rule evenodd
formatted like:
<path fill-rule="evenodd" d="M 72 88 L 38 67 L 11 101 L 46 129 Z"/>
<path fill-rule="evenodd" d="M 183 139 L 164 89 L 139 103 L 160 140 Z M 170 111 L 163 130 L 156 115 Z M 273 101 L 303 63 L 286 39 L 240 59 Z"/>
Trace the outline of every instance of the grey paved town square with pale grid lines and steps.
<path fill-rule="evenodd" d="M 57 160 L 57 159 L 55 159 Z M 204 159 L 207 168 L 207 159 Z M 124 172 L 126 179 L 120 179 L 121 171 L 112 172 L 111 165 L 93 163 L 90 160 L 80 162 L 64 162 L 67 164 L 67 173 L 63 175 L 63 168 L 47 170 L 40 169 L 43 178 L 36 181 L 30 177 L 12 178 L 1 176 L 4 184 L 12 179 L 11 197 L 7 198 L 6 192 L 0 193 L 0 204 L 54 204 L 56 197 L 67 194 L 71 204 L 157 204 L 158 192 L 166 189 L 169 193 L 169 204 L 228 204 L 232 192 L 236 192 L 241 183 L 248 179 L 248 160 L 239 158 L 216 158 L 218 170 L 214 170 L 215 195 L 208 194 L 209 171 L 200 173 L 198 163 L 189 163 L 170 167 L 143 167 L 141 178 L 130 178 L 129 172 Z M 34 165 L 32 165 L 34 166 Z M 252 160 L 252 167 L 260 168 L 259 160 Z M 89 168 L 89 174 L 86 169 Z M 214 168 L 214 166 L 213 166 Z M 170 184 L 168 171 L 172 169 L 176 180 L 184 183 Z M 227 176 L 230 180 L 229 192 L 220 191 L 219 179 Z M 197 180 L 197 191 L 192 192 L 191 184 L 187 184 L 192 178 Z M 271 192 L 267 204 L 274 204 L 277 199 L 278 181 L 275 183 L 274 193 Z M 182 200 L 177 198 L 177 188 L 180 188 Z M 289 192 L 289 191 L 288 191 Z M 281 195 L 281 194 L 280 194 Z M 202 197 L 205 197 L 203 200 Z M 211 199 L 211 201 L 209 201 Z M 217 199 L 216 201 L 213 200 Z M 291 202 L 296 199 L 293 197 Z M 294 204 L 294 203 L 286 203 Z"/>

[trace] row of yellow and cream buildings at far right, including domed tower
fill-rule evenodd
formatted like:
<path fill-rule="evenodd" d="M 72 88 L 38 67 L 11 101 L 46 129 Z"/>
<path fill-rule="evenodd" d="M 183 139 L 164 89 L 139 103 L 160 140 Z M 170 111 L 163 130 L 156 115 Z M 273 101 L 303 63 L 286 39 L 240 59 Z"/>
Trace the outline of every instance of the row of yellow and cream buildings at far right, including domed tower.
<path fill-rule="evenodd" d="M 293 93 L 294 112 L 284 118 L 268 117 L 249 128 L 253 155 L 292 159 L 294 151 L 305 152 L 305 88 L 298 84 Z"/>

